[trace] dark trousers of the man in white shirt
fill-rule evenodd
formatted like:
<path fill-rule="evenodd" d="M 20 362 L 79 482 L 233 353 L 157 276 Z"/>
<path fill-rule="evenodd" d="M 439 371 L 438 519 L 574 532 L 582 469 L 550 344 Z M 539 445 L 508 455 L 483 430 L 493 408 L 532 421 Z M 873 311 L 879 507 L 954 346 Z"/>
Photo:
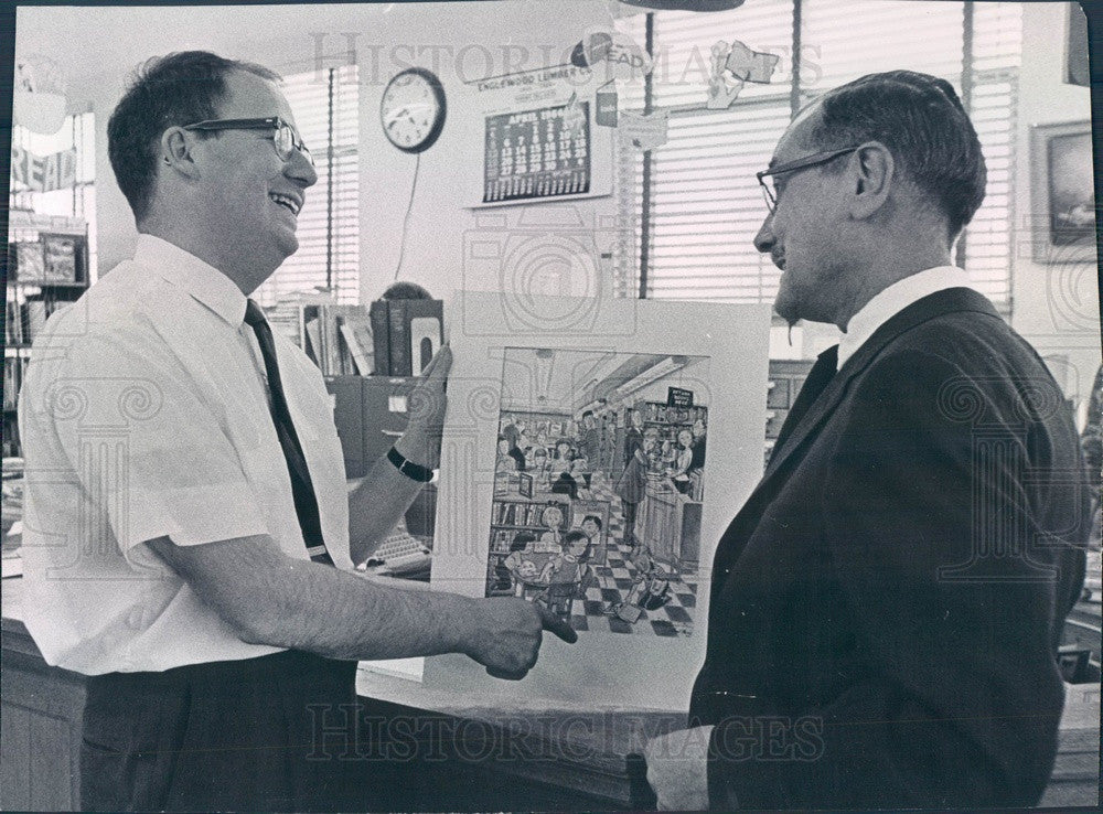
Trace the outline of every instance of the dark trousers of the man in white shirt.
<path fill-rule="evenodd" d="M 82 808 L 341 807 L 339 756 L 355 749 L 355 662 L 288 651 L 92 676 Z"/>

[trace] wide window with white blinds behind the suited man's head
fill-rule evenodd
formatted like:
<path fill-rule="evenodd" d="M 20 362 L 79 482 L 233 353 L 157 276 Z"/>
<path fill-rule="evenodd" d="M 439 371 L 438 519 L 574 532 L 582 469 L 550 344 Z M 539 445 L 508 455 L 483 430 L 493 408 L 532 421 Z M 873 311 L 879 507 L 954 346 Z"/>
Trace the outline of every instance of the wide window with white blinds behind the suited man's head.
<path fill-rule="evenodd" d="M 796 108 L 864 74 L 908 67 L 951 82 L 971 113 L 988 189 L 957 263 L 1009 311 L 1020 15 L 1016 3 L 915 0 L 761 0 L 719 13 L 651 14 L 656 68 L 650 93 L 643 84 L 629 87 L 622 105 L 672 108 L 668 141 L 650 156 L 621 154 L 619 203 L 625 224 L 628 211 L 634 213 L 634 245 L 622 253 L 618 290 L 772 301 L 780 272 L 751 245 L 765 216 L 754 172 L 769 162 Z M 628 22 L 643 43 L 647 15 Z M 733 39 L 781 57 L 773 82 L 748 84 L 727 110 L 704 110 L 711 45 Z"/>

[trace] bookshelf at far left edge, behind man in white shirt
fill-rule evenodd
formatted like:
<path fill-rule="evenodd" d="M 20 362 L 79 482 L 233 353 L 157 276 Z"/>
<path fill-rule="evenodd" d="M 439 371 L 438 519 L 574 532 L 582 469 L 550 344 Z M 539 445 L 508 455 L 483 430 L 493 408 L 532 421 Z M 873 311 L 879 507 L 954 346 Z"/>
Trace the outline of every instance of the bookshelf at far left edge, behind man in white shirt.
<path fill-rule="evenodd" d="M 4 293 L 3 456 L 22 452 L 15 418 L 31 345 L 46 320 L 88 288 L 88 227 L 76 217 L 13 208 Z"/>

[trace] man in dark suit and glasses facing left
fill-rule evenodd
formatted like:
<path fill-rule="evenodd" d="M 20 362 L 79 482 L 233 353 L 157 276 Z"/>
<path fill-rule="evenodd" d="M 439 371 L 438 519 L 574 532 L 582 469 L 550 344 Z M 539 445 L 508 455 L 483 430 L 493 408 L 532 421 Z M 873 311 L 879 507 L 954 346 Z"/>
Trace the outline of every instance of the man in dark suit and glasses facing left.
<path fill-rule="evenodd" d="M 844 336 L 718 544 L 689 728 L 646 748 L 658 804 L 1034 805 L 1090 500 L 1057 384 L 950 265 L 973 126 L 941 79 L 867 76 L 759 181 L 778 313 Z"/>

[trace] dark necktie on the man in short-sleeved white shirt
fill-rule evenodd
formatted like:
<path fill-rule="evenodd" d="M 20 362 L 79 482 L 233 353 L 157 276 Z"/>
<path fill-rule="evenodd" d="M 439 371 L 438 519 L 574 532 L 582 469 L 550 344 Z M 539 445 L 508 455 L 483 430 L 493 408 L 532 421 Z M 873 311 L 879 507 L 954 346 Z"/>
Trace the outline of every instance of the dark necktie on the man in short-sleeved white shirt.
<path fill-rule="evenodd" d="M 302 454 L 299 436 L 295 431 L 295 425 L 291 424 L 291 411 L 288 409 L 283 383 L 279 377 L 272 330 L 268 325 L 268 320 L 265 319 L 265 312 L 253 300 L 249 300 L 245 308 L 245 321 L 253 325 L 253 331 L 257 334 L 257 342 L 260 345 L 260 355 L 265 360 L 268 392 L 271 395 L 268 408 L 271 413 L 272 424 L 276 425 L 276 435 L 279 436 L 279 446 L 283 449 L 283 460 L 287 462 L 288 474 L 291 476 L 295 513 L 299 516 L 299 528 L 302 529 L 302 539 L 307 544 L 307 554 L 315 563 L 333 565 L 333 559 L 325 550 L 325 540 L 322 539 L 318 499 L 310 481 L 310 470 L 307 469 L 307 459 Z"/>

